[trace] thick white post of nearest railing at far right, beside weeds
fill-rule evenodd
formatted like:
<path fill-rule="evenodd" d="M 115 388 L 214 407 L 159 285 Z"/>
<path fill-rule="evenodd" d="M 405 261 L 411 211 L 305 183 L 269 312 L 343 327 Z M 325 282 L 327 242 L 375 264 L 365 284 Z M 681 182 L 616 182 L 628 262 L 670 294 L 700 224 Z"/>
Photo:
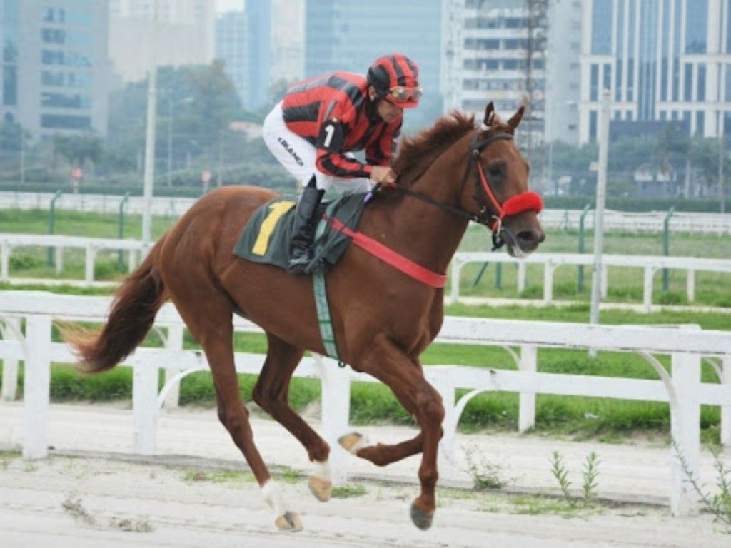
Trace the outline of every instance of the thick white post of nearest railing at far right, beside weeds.
<path fill-rule="evenodd" d="M 674 445 L 670 449 L 673 457 L 670 512 L 673 516 L 695 515 L 698 513 L 697 493 L 689 483 L 689 476 L 700 482 L 699 356 L 673 354 L 673 387 L 678 400 L 670 398 L 670 426 Z M 685 466 L 681 465 L 681 455 Z"/>

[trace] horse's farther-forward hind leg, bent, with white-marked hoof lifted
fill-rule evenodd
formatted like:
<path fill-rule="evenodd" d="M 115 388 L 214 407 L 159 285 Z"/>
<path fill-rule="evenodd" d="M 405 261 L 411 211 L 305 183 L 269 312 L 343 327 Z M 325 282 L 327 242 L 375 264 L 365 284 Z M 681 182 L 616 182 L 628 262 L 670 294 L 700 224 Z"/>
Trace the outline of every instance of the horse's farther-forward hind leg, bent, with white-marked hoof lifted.
<path fill-rule="evenodd" d="M 303 350 L 272 333 L 267 333 L 267 339 L 267 358 L 254 386 L 254 402 L 304 446 L 310 461 L 315 465 L 308 479 L 308 487 L 317 500 L 329 501 L 333 490 L 328 462 L 330 446 L 289 406 L 287 398 L 289 383 L 302 359 Z"/>

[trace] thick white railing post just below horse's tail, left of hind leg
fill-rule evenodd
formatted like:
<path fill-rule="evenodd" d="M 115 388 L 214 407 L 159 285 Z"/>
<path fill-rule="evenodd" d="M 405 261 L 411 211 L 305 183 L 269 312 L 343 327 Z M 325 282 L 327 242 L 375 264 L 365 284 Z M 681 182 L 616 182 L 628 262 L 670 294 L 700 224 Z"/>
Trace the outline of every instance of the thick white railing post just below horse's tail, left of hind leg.
<path fill-rule="evenodd" d="M 135 453 L 155 454 L 157 441 L 158 368 L 132 357 L 133 445 Z"/>

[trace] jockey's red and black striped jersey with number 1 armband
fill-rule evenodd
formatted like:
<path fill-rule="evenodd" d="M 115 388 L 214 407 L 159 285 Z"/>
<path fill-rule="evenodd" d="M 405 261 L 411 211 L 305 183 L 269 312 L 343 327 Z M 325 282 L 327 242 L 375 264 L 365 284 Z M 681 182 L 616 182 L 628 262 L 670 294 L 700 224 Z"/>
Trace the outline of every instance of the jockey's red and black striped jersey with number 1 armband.
<path fill-rule="evenodd" d="M 335 72 L 292 85 L 282 104 L 287 127 L 317 148 L 315 167 L 335 177 L 369 177 L 390 165 L 402 119 L 385 123 L 360 75 Z M 366 164 L 344 156 L 366 150 Z"/>

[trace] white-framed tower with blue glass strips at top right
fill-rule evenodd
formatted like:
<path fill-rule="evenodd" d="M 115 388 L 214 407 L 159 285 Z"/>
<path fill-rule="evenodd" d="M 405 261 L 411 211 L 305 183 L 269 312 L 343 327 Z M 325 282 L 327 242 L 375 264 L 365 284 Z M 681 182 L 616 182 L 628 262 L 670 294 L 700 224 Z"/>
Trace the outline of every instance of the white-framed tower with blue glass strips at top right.
<path fill-rule="evenodd" d="M 731 128 L 731 0 L 583 0 L 579 141 L 596 139 L 602 89 L 613 129 Z M 655 125 L 654 125 L 655 124 Z"/>

